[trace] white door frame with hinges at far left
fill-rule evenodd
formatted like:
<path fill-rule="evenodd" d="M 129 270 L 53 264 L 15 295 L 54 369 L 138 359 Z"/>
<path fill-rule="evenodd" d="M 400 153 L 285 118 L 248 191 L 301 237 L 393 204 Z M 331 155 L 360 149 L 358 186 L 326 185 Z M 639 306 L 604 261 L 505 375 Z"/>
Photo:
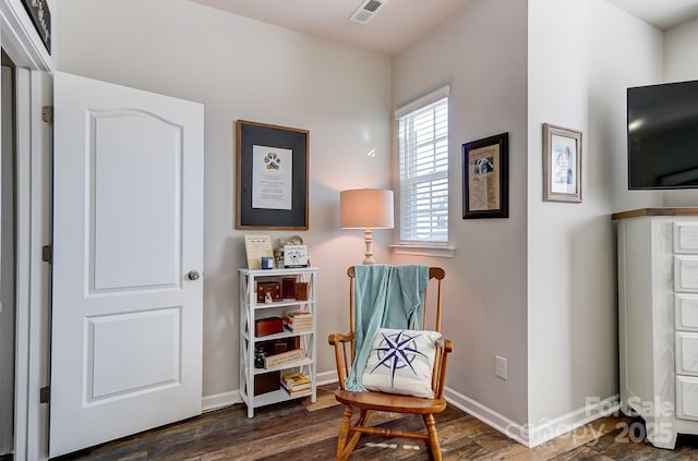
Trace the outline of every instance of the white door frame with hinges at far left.
<path fill-rule="evenodd" d="M 50 126 L 41 107 L 50 100 L 52 60 L 20 0 L 0 0 L 0 46 L 17 68 L 17 254 L 14 459 L 47 452 L 49 277 L 41 246 L 50 243 Z M 44 72 L 40 72 L 44 71 Z"/>

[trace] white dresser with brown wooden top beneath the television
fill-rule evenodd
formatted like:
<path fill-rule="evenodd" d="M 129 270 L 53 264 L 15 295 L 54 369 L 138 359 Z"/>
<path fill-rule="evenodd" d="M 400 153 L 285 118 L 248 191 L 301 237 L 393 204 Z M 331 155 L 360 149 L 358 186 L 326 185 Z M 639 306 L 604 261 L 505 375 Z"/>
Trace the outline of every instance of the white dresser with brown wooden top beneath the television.
<path fill-rule="evenodd" d="M 655 447 L 698 434 L 698 208 L 613 215 L 621 409 Z"/>

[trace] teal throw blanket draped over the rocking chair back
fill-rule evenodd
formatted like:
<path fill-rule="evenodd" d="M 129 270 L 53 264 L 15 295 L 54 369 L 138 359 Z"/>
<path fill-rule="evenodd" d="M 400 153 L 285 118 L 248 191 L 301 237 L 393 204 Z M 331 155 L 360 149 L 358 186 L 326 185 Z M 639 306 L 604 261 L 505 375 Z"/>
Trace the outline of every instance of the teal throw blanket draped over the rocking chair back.
<path fill-rule="evenodd" d="M 345 388 L 366 389 L 361 377 L 378 328 L 420 329 L 429 267 L 373 264 L 354 266 L 356 356 Z"/>

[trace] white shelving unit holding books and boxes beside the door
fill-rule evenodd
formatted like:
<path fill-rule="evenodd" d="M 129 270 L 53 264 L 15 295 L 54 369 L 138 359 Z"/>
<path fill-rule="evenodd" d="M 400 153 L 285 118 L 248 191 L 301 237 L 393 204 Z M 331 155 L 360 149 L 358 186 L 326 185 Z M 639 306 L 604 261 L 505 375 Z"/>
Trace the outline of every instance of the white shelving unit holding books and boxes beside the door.
<path fill-rule="evenodd" d="M 277 281 L 281 284 L 285 278 L 294 278 L 296 282 L 308 283 L 306 300 L 281 299 L 273 303 L 258 303 L 256 287 L 260 282 Z M 248 405 L 248 417 L 254 416 L 254 409 L 287 400 L 311 397 L 316 400 L 315 376 L 315 347 L 317 315 L 315 313 L 315 286 L 317 279 L 316 267 L 303 267 L 293 269 L 240 269 L 240 397 Z M 268 317 L 282 317 L 288 311 L 308 311 L 312 314 L 313 327 L 310 331 L 291 332 L 285 329 L 282 332 L 255 336 L 255 320 Z M 304 357 L 273 368 L 255 368 L 254 352 L 260 343 L 269 344 L 270 341 L 292 341 L 298 338 L 298 345 L 304 351 Z M 311 379 L 311 388 L 308 392 L 290 396 L 284 387 L 255 396 L 255 377 L 266 374 L 286 375 L 293 372 L 302 372 Z M 280 381 L 279 381 L 280 386 Z"/>

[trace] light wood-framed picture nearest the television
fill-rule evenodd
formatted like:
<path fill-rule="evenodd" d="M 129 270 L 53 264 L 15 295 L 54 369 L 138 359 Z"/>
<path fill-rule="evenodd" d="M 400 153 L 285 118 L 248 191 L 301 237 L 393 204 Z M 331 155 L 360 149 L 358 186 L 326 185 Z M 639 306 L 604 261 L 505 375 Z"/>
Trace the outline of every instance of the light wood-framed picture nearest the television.
<path fill-rule="evenodd" d="M 581 132 L 543 123 L 543 201 L 581 203 Z"/>

